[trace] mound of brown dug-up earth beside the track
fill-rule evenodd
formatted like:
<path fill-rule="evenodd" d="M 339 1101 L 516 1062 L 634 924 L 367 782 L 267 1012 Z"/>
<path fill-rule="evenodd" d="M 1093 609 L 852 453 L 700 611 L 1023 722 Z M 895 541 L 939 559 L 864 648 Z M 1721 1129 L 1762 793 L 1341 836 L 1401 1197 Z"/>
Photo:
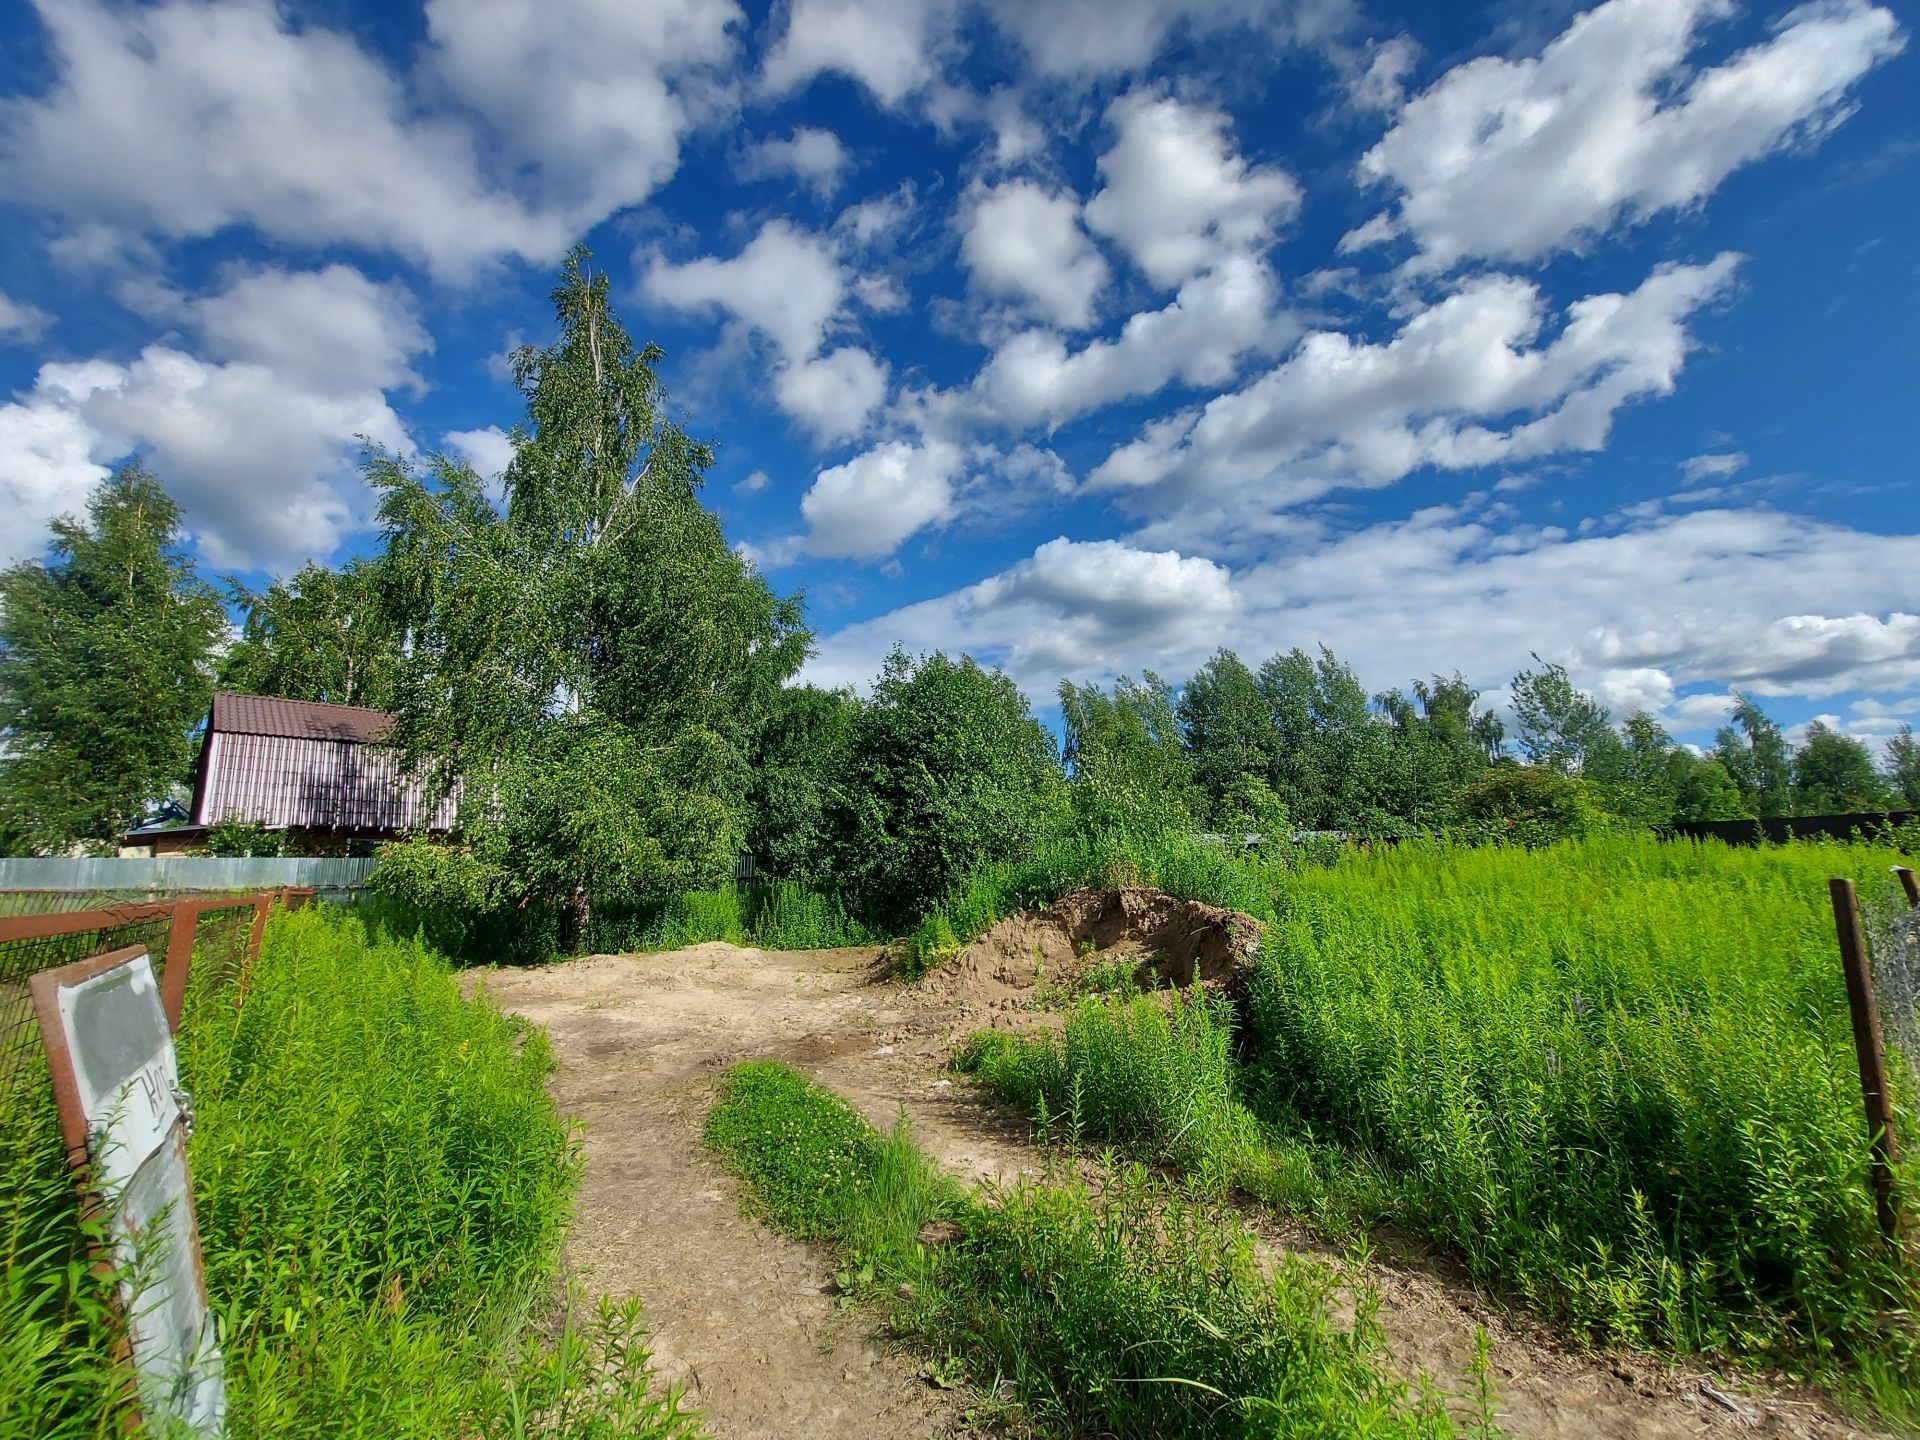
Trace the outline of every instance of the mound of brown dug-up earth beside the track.
<path fill-rule="evenodd" d="M 1081 891 L 1002 920 L 927 975 L 958 1004 L 1025 1010 L 1037 993 L 1071 993 L 1094 966 L 1135 960 L 1142 989 L 1202 985 L 1240 1000 L 1260 922 L 1165 891 Z"/>

